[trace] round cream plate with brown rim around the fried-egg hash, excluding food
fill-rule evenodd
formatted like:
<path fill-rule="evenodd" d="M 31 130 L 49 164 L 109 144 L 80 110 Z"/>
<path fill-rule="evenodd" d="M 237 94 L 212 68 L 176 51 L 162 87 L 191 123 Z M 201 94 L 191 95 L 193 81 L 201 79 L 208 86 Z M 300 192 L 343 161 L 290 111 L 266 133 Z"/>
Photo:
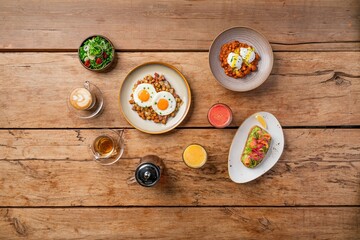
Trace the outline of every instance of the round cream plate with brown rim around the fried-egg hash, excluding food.
<path fill-rule="evenodd" d="M 171 87 L 175 89 L 175 92 L 183 100 L 183 104 L 176 116 L 169 118 L 165 125 L 143 120 L 131 109 L 132 105 L 129 103 L 134 84 L 148 74 L 154 76 L 155 72 L 159 75 L 163 74 Z M 148 62 L 137 66 L 126 76 L 120 88 L 120 106 L 124 117 L 133 127 L 145 133 L 161 134 L 174 129 L 184 120 L 190 109 L 190 103 L 191 92 L 187 80 L 179 70 L 167 63 Z"/>

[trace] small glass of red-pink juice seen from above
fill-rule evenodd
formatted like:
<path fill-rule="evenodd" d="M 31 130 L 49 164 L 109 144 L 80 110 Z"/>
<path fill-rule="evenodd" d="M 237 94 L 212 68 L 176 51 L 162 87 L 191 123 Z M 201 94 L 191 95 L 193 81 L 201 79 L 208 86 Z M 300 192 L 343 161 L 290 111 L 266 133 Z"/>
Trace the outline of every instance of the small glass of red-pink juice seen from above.
<path fill-rule="evenodd" d="M 208 111 L 208 120 L 216 128 L 225 128 L 232 121 L 232 111 L 226 104 L 214 104 Z"/>

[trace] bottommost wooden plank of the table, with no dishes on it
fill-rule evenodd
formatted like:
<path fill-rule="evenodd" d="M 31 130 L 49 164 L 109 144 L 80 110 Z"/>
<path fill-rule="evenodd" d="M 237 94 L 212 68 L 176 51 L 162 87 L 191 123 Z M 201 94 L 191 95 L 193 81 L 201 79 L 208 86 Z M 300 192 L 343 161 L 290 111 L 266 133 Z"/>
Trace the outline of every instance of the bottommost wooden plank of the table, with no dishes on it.
<path fill-rule="evenodd" d="M 359 216 L 358 207 L 3 208 L 0 235 L 5 239 L 357 239 Z"/>

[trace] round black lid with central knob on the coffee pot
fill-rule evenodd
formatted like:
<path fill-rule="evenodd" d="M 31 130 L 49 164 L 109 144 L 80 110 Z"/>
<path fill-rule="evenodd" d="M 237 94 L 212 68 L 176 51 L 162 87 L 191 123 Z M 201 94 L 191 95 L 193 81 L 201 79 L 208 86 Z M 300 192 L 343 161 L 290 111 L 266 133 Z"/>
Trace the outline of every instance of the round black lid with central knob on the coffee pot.
<path fill-rule="evenodd" d="M 153 163 L 140 164 L 135 171 L 135 179 L 144 187 L 152 187 L 160 180 L 160 168 Z"/>

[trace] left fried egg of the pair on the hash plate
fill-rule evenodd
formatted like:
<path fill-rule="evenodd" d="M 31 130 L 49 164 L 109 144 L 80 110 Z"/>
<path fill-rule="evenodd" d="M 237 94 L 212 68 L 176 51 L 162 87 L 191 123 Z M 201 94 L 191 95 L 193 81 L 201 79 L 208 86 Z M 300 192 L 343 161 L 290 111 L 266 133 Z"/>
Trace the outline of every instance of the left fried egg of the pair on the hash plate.
<path fill-rule="evenodd" d="M 135 88 L 133 97 L 135 103 L 140 107 L 150 107 L 153 103 L 155 94 L 156 90 L 153 85 L 141 83 Z"/>

